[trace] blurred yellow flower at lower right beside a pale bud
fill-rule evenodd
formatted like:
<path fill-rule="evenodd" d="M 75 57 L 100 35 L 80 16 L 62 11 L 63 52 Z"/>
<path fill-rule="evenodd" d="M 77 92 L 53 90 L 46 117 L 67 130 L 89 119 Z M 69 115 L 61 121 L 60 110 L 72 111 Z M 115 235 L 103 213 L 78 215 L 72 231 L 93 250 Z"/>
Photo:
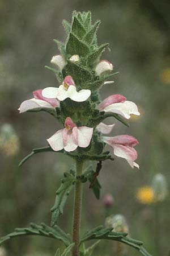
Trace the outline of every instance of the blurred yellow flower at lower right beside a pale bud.
<path fill-rule="evenodd" d="M 149 186 L 144 186 L 137 189 L 136 197 L 141 204 L 155 203 L 154 191 Z"/>

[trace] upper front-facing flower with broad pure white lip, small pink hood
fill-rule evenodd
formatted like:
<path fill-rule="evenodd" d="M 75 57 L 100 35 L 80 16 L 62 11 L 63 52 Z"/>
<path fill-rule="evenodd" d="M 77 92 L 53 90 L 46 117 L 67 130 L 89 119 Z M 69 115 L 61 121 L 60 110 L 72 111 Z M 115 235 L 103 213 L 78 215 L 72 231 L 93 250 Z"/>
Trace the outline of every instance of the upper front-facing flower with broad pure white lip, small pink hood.
<path fill-rule="evenodd" d="M 66 76 L 59 88 L 47 87 L 42 90 L 42 96 L 46 98 L 57 98 L 59 101 L 71 98 L 73 101 L 82 102 L 86 101 L 90 95 L 90 90 L 79 90 L 79 92 L 77 92 L 74 80 L 71 76 Z"/>

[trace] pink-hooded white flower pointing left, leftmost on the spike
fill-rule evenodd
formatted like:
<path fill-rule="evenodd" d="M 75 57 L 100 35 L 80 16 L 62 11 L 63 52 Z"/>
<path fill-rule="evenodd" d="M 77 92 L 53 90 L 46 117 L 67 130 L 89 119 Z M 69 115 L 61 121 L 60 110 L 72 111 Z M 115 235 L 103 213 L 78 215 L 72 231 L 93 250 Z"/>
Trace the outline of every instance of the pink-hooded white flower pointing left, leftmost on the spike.
<path fill-rule="evenodd" d="M 45 98 L 42 96 L 42 90 L 35 90 L 33 92 L 34 98 L 31 98 L 30 100 L 26 100 L 22 102 L 20 105 L 19 113 L 27 112 L 28 110 L 32 109 L 55 109 L 59 108 L 59 101 L 56 98 Z"/>

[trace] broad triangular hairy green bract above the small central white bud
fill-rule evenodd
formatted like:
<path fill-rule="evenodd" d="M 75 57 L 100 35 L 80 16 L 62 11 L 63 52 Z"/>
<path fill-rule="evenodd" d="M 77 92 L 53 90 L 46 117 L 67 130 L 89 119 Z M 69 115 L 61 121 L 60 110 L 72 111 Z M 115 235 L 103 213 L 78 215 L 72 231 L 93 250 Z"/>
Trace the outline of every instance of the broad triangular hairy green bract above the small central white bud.
<path fill-rule="evenodd" d="M 78 39 L 72 32 L 69 35 L 69 40 L 66 45 L 66 52 L 69 55 L 86 56 L 90 49 L 87 44 Z"/>

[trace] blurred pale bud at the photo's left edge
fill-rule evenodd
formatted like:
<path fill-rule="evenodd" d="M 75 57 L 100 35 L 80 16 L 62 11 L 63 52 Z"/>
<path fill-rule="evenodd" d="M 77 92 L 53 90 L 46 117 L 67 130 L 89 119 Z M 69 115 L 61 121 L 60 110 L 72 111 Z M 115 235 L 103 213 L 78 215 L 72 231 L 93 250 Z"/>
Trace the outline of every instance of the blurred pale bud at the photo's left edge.
<path fill-rule="evenodd" d="M 15 155 L 19 150 L 19 138 L 8 123 L 2 125 L 0 130 L 0 150 L 7 156 Z"/>

